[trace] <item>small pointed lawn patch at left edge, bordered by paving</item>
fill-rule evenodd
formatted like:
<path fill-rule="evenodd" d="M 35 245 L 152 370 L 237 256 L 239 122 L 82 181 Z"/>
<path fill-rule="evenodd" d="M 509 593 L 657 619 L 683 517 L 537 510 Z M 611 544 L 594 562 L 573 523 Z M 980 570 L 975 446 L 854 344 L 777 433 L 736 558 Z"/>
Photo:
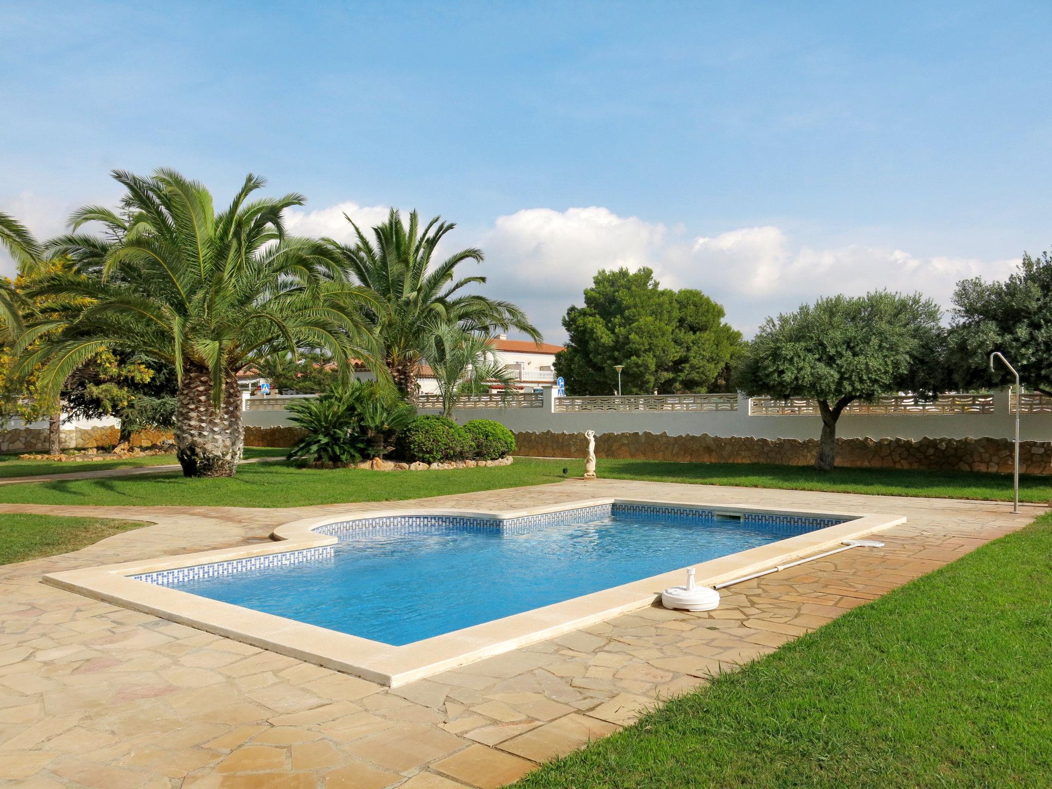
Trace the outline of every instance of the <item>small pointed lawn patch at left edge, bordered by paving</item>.
<path fill-rule="evenodd" d="M 108 518 L 0 514 L 0 565 L 67 553 L 145 525 Z"/>

